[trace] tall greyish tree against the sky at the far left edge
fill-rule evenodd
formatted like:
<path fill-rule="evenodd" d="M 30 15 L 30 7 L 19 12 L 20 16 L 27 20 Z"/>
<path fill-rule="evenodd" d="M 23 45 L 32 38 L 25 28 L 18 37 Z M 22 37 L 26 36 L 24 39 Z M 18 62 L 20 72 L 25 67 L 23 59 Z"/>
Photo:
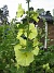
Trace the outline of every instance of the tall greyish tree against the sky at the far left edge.
<path fill-rule="evenodd" d="M 3 5 L 3 8 L 0 9 L 1 24 L 3 24 L 3 23 L 8 24 L 9 23 L 8 16 L 9 16 L 8 5 Z"/>

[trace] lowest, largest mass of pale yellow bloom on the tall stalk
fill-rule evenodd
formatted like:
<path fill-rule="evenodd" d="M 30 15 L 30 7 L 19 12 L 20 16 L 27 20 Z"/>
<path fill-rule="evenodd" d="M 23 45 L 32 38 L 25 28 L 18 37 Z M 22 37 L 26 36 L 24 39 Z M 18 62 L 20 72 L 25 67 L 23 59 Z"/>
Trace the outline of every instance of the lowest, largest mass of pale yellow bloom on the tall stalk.
<path fill-rule="evenodd" d="M 38 47 L 36 47 L 32 51 L 27 52 L 22 52 L 19 49 L 22 49 L 21 45 L 16 45 L 14 47 L 17 64 L 23 66 L 28 66 L 35 60 L 33 56 L 37 56 L 39 52 Z"/>

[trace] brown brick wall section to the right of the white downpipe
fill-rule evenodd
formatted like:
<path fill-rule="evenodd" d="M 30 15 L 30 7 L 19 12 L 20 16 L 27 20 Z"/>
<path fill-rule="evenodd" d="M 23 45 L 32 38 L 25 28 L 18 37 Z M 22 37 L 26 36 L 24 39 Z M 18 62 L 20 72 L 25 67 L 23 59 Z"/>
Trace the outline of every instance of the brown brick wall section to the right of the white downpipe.
<path fill-rule="evenodd" d="M 49 45 L 54 45 L 54 25 L 48 24 L 48 38 L 49 38 Z"/>

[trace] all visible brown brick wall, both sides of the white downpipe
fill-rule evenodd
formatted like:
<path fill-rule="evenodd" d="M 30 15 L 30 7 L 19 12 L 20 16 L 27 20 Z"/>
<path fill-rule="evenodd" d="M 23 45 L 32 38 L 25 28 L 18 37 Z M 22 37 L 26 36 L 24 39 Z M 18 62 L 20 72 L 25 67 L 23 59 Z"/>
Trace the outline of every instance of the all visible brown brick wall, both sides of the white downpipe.
<path fill-rule="evenodd" d="M 43 21 L 39 20 L 38 26 L 43 28 Z M 54 45 L 54 25 L 53 23 L 48 23 L 48 45 Z M 40 39 L 44 44 L 44 38 Z"/>

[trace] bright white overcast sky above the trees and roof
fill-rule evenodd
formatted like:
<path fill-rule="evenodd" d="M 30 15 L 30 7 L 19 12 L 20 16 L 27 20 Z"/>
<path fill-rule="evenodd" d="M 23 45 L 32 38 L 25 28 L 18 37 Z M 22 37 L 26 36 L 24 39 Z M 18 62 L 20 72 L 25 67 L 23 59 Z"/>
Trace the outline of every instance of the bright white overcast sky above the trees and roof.
<path fill-rule="evenodd" d="M 2 8 L 4 4 L 8 5 L 9 17 L 11 20 L 16 15 L 18 3 L 22 3 L 23 8 L 27 10 L 26 0 L 0 0 L 0 8 Z M 53 14 L 54 0 L 31 0 L 30 7 L 33 7 L 35 10 L 43 8 L 45 11 L 50 10 Z"/>

